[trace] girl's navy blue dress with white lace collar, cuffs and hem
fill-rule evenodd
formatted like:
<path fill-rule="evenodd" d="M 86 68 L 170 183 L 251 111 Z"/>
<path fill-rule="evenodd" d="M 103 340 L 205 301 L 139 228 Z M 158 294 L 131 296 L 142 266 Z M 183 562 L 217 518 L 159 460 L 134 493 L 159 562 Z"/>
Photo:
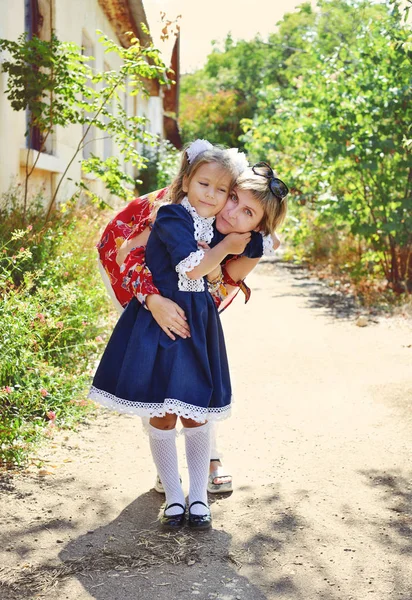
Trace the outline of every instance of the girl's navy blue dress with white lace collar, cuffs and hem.
<path fill-rule="evenodd" d="M 210 243 L 214 219 L 199 217 L 184 202 L 159 209 L 146 261 L 160 293 L 185 311 L 191 337 L 171 340 L 134 298 L 112 333 L 89 397 L 119 412 L 171 412 L 203 422 L 229 416 L 232 391 L 222 326 L 205 278 L 185 275 L 202 259 L 197 240 Z"/>

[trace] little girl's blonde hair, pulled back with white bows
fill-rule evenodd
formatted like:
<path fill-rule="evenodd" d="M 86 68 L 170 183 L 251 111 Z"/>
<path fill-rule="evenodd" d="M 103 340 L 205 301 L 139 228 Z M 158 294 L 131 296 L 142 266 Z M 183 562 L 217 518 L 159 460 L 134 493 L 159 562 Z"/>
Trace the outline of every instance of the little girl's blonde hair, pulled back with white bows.
<path fill-rule="evenodd" d="M 186 148 L 188 147 L 189 146 Z M 179 204 L 186 196 L 186 192 L 183 191 L 183 179 L 186 177 L 190 182 L 199 167 L 208 163 L 217 163 L 222 167 L 222 169 L 227 170 L 231 176 L 230 189 L 233 188 L 236 182 L 238 171 L 226 150 L 213 146 L 212 148 L 201 152 L 192 160 L 192 162 L 189 162 L 186 148 L 182 154 L 179 173 L 176 175 L 169 187 L 164 199 L 165 202 L 170 204 Z"/>

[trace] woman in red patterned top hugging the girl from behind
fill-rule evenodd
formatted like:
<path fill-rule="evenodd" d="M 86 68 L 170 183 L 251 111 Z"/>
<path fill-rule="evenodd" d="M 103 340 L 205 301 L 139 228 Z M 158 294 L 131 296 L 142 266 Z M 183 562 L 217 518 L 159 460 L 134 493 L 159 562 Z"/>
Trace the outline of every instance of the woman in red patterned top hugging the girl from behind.
<path fill-rule="evenodd" d="M 203 140 L 202 140 L 203 142 Z M 198 140 L 194 144 L 199 144 Z M 229 151 L 232 152 L 232 151 Z M 233 154 L 233 152 L 232 152 Z M 240 155 L 239 158 L 243 156 Z M 239 163 L 239 160 L 237 161 Z M 217 216 L 217 229 L 214 234 L 213 241 L 219 239 L 219 232 L 227 232 L 231 225 L 232 231 L 245 232 L 252 229 L 259 230 L 262 235 L 257 235 L 254 244 L 252 241 L 248 244 L 249 253 L 246 254 L 252 258 L 259 258 L 264 254 L 273 254 L 273 248 L 278 247 L 279 240 L 274 229 L 283 220 L 286 213 L 286 202 L 283 200 L 287 193 L 286 186 L 283 188 L 274 189 L 270 185 L 274 182 L 279 182 L 274 176 L 274 173 L 267 166 L 253 169 L 245 169 L 247 163 L 244 160 L 243 164 L 238 164 L 243 174 L 240 175 L 236 182 L 235 191 L 227 200 L 221 214 Z M 263 177 L 263 178 L 262 178 Z M 272 183 L 273 179 L 273 183 Z M 279 184 L 278 184 L 279 185 Z M 145 301 L 150 305 L 149 309 L 152 312 L 156 322 L 162 327 L 163 331 L 172 339 L 175 339 L 173 334 L 188 335 L 187 324 L 184 320 L 184 312 L 181 308 L 167 298 L 162 298 L 159 295 L 159 290 L 153 284 L 150 271 L 145 266 L 144 247 L 140 244 L 145 244 L 146 241 L 141 241 L 141 234 L 151 223 L 153 203 L 159 200 L 164 200 L 167 190 L 160 190 L 148 196 L 138 198 L 127 205 L 110 223 L 107 225 L 100 242 L 98 244 L 100 264 L 104 267 L 103 275 L 108 276 L 107 287 L 109 292 L 114 292 L 113 299 L 118 306 L 119 302 L 127 305 L 130 299 L 135 295 L 139 301 Z M 278 197 L 276 197 L 278 196 Z M 147 234 L 146 234 L 146 237 Z M 123 261 L 119 260 L 121 250 L 124 247 L 124 239 L 138 239 L 139 246 L 133 248 L 127 257 L 126 262 L 122 267 L 119 267 Z M 256 239 L 257 238 L 257 239 Z M 272 239 L 273 238 L 273 239 Z M 220 235 L 220 239 L 222 236 Z M 259 250 L 260 239 L 260 250 Z M 123 244 L 123 245 L 122 245 Z M 134 244 L 136 245 L 136 244 Z M 241 258 L 235 262 L 230 262 L 225 269 L 225 283 L 233 283 L 236 285 L 239 280 L 242 280 L 247 273 L 255 266 L 257 261 Z M 107 277 L 106 277 L 107 279 Z M 245 286 L 246 287 L 246 286 Z M 218 303 L 218 295 L 214 296 Z M 156 300 L 156 304 L 154 304 Z M 121 308 L 121 307 L 120 307 Z M 210 475 L 208 481 L 208 491 L 210 493 L 222 493 L 232 490 L 232 478 L 226 474 L 226 471 L 221 466 L 220 454 L 216 448 L 216 436 L 212 431 L 212 446 L 211 446 L 211 461 Z M 155 489 L 163 491 L 159 477 L 156 480 Z"/>

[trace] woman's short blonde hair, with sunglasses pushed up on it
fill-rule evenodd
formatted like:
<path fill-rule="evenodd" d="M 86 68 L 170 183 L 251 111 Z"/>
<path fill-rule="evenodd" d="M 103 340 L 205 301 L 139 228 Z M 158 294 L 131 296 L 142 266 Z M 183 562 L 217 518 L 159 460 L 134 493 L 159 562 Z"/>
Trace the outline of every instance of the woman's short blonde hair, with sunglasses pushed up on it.
<path fill-rule="evenodd" d="M 257 175 L 249 167 L 239 175 L 235 187 L 239 190 L 251 192 L 263 208 L 263 218 L 259 223 L 259 229 L 262 233 L 265 235 L 272 234 L 283 223 L 288 209 L 286 198 L 277 198 L 271 192 L 269 180 L 266 177 Z"/>

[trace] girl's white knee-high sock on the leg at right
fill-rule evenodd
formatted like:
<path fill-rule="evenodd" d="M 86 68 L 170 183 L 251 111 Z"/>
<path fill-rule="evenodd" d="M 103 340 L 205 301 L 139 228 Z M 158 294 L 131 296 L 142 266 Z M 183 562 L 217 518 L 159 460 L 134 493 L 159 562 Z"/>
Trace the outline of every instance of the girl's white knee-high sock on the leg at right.
<path fill-rule="evenodd" d="M 189 505 L 200 500 L 207 505 L 207 478 L 210 464 L 210 426 L 184 427 L 187 468 L 189 470 Z M 206 514 L 201 504 L 196 504 L 191 512 Z"/>

